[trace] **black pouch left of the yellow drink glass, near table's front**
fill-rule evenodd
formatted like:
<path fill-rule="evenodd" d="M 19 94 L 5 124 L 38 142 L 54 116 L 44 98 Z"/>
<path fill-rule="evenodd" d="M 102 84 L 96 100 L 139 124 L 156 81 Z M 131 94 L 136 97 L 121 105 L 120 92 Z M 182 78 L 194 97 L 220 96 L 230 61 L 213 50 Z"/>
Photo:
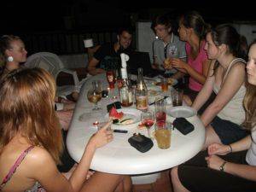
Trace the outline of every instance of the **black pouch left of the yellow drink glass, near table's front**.
<path fill-rule="evenodd" d="M 137 148 L 137 150 L 142 153 L 147 152 L 154 145 L 150 138 L 145 137 L 140 133 L 133 134 L 133 136 L 128 139 L 128 142 L 132 147 Z"/>

